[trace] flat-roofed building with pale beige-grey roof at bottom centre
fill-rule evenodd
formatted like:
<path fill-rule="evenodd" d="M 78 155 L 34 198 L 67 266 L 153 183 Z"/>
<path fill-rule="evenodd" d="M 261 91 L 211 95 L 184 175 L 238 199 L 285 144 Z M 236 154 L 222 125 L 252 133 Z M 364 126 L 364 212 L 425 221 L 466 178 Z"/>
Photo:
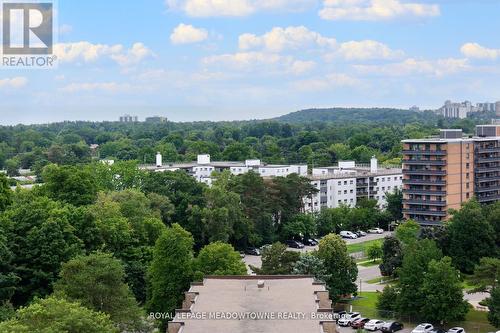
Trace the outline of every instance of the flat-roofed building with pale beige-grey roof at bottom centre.
<path fill-rule="evenodd" d="M 213 276 L 194 283 L 168 333 L 335 333 L 328 291 L 312 276 Z"/>

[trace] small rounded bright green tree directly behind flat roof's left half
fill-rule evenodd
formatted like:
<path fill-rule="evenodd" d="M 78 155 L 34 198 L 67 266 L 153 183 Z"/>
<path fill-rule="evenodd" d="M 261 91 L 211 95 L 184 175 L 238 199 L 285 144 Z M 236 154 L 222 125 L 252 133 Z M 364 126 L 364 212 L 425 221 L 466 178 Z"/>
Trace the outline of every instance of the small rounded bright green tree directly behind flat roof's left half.
<path fill-rule="evenodd" d="M 206 275 L 246 275 L 247 269 L 240 254 L 222 242 L 203 247 L 195 259 L 194 267 L 198 278 Z"/>

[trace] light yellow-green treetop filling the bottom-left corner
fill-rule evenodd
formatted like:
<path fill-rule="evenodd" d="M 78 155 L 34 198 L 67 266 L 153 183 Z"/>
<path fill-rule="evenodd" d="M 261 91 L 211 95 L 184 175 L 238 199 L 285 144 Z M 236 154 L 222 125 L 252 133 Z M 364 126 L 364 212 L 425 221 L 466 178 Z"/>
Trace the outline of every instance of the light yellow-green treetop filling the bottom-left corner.
<path fill-rule="evenodd" d="M 5 333 L 118 333 L 109 316 L 78 303 L 49 297 L 17 310 L 13 319 L 0 323 Z"/>

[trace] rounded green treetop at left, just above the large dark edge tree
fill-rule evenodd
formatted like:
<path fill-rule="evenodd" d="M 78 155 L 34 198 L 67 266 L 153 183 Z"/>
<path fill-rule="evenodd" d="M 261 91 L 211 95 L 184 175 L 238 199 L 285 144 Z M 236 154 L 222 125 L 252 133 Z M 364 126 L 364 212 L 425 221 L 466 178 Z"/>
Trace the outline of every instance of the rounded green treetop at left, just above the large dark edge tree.
<path fill-rule="evenodd" d="M 97 198 L 94 176 L 74 166 L 47 165 L 42 173 L 47 195 L 75 206 L 88 205 Z"/>

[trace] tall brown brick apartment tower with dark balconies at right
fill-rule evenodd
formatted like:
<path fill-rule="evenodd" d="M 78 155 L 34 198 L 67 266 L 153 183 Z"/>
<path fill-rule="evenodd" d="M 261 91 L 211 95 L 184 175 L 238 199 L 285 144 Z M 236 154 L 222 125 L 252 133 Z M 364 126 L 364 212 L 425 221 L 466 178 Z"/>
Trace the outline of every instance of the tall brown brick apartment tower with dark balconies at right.
<path fill-rule="evenodd" d="M 439 225 L 449 209 L 476 197 L 500 200 L 500 126 L 481 125 L 474 137 L 461 130 L 403 140 L 403 213 L 423 225 Z"/>

